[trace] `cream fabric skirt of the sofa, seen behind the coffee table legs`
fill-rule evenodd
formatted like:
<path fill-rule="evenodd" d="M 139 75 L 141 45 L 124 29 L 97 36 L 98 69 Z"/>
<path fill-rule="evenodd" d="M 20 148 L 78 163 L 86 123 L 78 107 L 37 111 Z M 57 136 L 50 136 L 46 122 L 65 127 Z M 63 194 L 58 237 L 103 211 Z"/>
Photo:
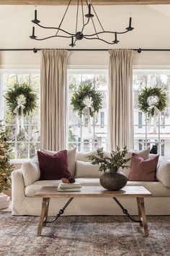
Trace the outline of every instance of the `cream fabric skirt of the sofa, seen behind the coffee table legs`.
<path fill-rule="evenodd" d="M 135 198 L 118 198 L 130 215 L 138 215 Z M 51 198 L 48 216 L 56 216 L 68 198 Z M 19 205 L 18 205 L 19 203 Z M 12 200 L 12 215 L 40 216 L 42 198 L 22 197 L 22 202 Z M 146 215 L 170 215 L 170 197 L 146 197 Z M 112 198 L 74 198 L 63 215 L 66 216 L 122 216 L 122 210 Z"/>

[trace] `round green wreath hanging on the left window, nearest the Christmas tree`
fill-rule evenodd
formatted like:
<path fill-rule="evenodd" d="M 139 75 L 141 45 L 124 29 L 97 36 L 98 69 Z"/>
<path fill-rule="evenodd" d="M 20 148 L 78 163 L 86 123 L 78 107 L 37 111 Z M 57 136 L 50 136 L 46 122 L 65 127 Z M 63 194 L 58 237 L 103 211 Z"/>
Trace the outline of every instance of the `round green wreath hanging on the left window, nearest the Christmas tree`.
<path fill-rule="evenodd" d="M 21 108 L 23 108 L 25 116 L 34 111 L 37 106 L 37 95 L 32 92 L 32 88 L 27 83 L 14 84 L 14 88 L 10 88 L 4 98 L 6 98 L 6 106 L 12 114 L 16 113 L 17 108 L 21 114 Z"/>

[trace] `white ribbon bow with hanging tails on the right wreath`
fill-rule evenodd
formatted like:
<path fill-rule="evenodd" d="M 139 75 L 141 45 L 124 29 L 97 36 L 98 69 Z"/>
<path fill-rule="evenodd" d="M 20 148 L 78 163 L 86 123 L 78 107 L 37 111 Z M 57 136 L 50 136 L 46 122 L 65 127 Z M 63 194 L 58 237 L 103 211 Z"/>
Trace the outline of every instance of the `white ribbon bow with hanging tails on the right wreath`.
<path fill-rule="evenodd" d="M 148 131 L 151 129 L 151 121 L 153 117 L 153 133 L 156 133 L 156 124 L 157 124 L 157 116 L 158 114 L 161 114 L 161 111 L 158 110 L 158 108 L 155 106 L 156 103 L 158 103 L 158 97 L 157 96 L 151 96 L 148 97 L 147 101 L 148 110 L 150 111 L 150 114 L 148 114 Z M 152 115 L 153 113 L 153 115 Z"/>

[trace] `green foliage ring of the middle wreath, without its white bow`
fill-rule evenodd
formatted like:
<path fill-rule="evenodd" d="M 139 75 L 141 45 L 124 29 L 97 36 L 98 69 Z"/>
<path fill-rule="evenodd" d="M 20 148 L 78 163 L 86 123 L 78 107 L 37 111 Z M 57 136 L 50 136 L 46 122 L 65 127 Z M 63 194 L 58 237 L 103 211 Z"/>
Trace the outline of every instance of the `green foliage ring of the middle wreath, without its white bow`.
<path fill-rule="evenodd" d="M 83 109 L 86 107 L 86 103 L 84 102 L 86 99 L 91 99 L 89 111 L 90 116 L 93 117 L 102 108 L 102 94 L 91 88 L 91 84 L 79 85 L 78 90 L 71 97 L 73 111 L 78 111 L 79 116 L 83 114 Z"/>

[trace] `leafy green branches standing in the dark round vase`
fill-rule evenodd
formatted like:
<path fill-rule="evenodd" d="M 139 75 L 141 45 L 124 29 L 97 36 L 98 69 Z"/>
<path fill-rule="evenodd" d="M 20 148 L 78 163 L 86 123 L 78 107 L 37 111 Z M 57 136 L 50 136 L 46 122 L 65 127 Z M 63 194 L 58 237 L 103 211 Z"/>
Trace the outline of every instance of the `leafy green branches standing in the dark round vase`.
<path fill-rule="evenodd" d="M 123 150 L 120 150 L 119 147 L 117 147 L 116 151 L 111 151 L 110 157 L 105 156 L 101 149 L 97 150 L 96 155 L 89 155 L 88 158 L 91 160 L 92 164 L 98 164 L 99 165 L 99 171 L 106 171 L 107 169 L 114 169 L 117 171 L 120 167 L 121 168 L 128 168 L 129 166 L 126 165 L 128 161 L 130 161 L 130 158 L 125 159 L 125 155 L 128 153 L 127 147 L 123 148 Z"/>

